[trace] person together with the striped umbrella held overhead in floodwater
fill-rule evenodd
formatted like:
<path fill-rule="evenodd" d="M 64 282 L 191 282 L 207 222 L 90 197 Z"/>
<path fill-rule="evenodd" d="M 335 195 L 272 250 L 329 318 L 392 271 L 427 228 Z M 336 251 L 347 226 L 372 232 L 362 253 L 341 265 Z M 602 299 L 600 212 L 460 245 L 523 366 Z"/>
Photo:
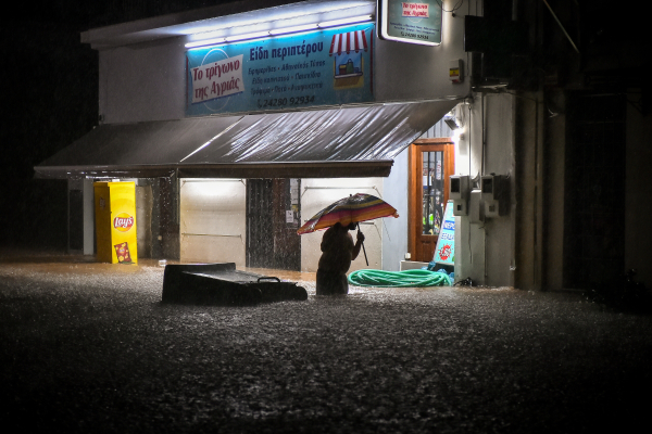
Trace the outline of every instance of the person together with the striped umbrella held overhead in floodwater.
<path fill-rule="evenodd" d="M 358 193 L 328 205 L 297 230 L 302 235 L 328 228 L 322 238 L 322 257 L 317 268 L 318 295 L 349 293 L 347 271 L 360 254 L 360 247 L 366 260 L 360 221 L 389 216 L 399 217 L 393 206 L 374 195 Z M 358 241 L 353 243 L 349 231 L 356 227 Z M 368 260 L 366 264 L 369 265 Z"/>

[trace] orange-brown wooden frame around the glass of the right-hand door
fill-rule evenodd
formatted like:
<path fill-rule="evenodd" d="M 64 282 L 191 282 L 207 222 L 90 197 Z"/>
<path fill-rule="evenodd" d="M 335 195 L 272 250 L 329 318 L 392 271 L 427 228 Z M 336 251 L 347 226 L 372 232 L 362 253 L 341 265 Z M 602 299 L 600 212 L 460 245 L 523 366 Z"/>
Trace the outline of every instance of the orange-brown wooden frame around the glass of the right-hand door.
<path fill-rule="evenodd" d="M 417 237 L 423 233 L 422 192 L 423 176 L 418 176 L 423 167 L 422 152 L 443 151 L 443 210 L 449 200 L 450 176 L 455 174 L 455 149 L 452 138 L 417 139 L 409 149 L 409 194 L 408 194 L 408 252 L 412 260 L 416 258 Z M 434 237 L 434 235 L 430 235 Z M 437 240 L 435 240 L 437 246 Z"/>

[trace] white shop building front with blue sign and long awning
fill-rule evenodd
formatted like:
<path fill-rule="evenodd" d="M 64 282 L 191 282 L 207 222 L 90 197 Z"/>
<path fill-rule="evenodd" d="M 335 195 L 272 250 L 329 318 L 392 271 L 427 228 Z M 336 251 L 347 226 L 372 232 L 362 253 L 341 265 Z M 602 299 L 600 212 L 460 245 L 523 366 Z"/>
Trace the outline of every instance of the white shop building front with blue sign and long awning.
<path fill-rule="evenodd" d="M 451 61 L 467 58 L 464 21 L 429 3 L 441 41 L 427 46 L 380 39 L 375 1 L 217 5 L 88 30 L 100 125 L 37 176 L 70 180 L 86 254 L 89 186 L 120 179 L 137 184 L 141 256 L 302 270 L 315 269 L 321 234 L 296 229 L 366 192 L 402 216 L 363 226 L 368 267 L 398 269 L 409 251 L 408 146 L 471 89 L 464 67 L 451 79 Z"/>

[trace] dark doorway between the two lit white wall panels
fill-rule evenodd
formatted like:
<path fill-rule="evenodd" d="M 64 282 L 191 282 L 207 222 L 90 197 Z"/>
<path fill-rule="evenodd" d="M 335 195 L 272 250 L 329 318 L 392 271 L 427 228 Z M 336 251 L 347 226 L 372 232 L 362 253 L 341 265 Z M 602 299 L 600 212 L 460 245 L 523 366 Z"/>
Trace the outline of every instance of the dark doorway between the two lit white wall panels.
<path fill-rule="evenodd" d="M 247 267 L 301 270 L 300 179 L 247 180 Z"/>

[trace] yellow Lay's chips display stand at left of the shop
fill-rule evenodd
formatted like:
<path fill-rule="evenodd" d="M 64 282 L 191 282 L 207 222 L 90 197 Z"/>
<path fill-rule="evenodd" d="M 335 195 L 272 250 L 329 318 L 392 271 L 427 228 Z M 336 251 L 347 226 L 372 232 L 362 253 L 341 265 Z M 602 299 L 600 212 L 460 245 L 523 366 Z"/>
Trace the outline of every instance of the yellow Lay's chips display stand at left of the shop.
<path fill-rule="evenodd" d="M 98 260 L 137 264 L 136 183 L 96 182 L 93 187 Z"/>

